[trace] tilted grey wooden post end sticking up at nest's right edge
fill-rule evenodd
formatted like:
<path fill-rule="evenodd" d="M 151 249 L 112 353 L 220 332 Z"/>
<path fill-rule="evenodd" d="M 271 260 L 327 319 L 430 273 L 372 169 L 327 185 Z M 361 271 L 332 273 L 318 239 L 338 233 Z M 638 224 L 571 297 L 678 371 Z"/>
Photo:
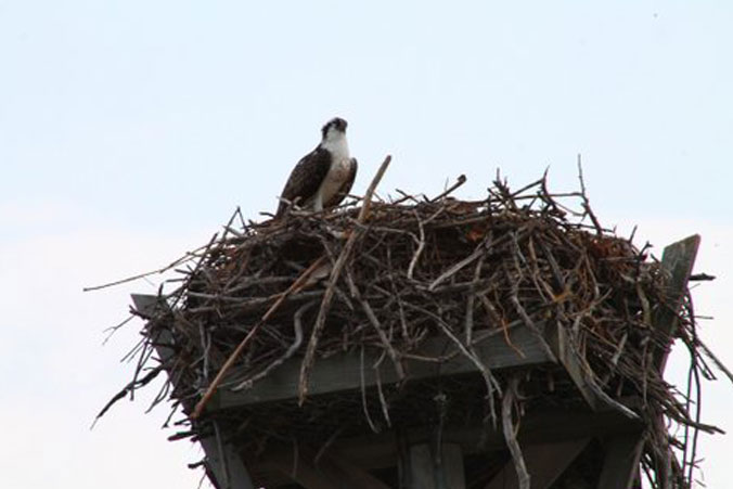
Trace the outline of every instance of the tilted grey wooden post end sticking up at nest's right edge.
<path fill-rule="evenodd" d="M 654 357 L 660 372 L 664 372 L 667 357 L 672 348 L 678 314 L 695 265 L 699 243 L 700 236 L 693 234 L 667 246 L 661 254 L 661 269 L 668 274 L 669 283 L 666 291 L 666 304 L 660 305 L 653 319 L 654 327 L 663 334 L 664 338 L 668 338 L 664 348 L 657 350 Z"/>

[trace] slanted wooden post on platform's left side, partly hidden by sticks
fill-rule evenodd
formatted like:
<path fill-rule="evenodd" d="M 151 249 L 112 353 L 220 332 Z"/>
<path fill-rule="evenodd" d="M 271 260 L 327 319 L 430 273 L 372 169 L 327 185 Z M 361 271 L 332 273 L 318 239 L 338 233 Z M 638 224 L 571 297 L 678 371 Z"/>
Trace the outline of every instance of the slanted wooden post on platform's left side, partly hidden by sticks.
<path fill-rule="evenodd" d="M 167 307 L 167 304 L 155 295 L 132 294 L 131 297 L 134 308 L 146 317 L 152 317 L 156 308 Z M 155 343 L 155 349 L 162 361 L 165 362 L 173 355 L 172 337 L 168 332 L 162 332 Z M 221 443 L 220 439 L 213 436 L 202 438 L 201 446 L 206 453 L 208 473 L 216 478 L 219 489 L 254 489 L 247 468 L 230 445 Z"/>

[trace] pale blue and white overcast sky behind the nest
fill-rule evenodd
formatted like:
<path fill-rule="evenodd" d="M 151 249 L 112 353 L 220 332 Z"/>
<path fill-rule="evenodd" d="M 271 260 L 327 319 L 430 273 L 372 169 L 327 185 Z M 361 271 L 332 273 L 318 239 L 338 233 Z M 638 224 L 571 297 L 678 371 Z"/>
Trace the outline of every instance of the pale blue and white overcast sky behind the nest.
<path fill-rule="evenodd" d="M 497 168 L 575 190 L 582 154 L 603 223 L 657 252 L 703 235 L 703 336 L 733 365 L 733 3 L 597 3 L 0 0 L 0 486 L 197 486 L 154 393 L 89 429 L 141 324 L 103 330 L 159 279 L 81 288 L 273 210 L 334 115 L 356 193 L 387 153 L 382 193 L 465 173 L 466 198 Z M 732 406 L 706 386 L 704 421 L 733 430 Z M 732 452 L 703 437 L 708 487 L 733 486 Z"/>

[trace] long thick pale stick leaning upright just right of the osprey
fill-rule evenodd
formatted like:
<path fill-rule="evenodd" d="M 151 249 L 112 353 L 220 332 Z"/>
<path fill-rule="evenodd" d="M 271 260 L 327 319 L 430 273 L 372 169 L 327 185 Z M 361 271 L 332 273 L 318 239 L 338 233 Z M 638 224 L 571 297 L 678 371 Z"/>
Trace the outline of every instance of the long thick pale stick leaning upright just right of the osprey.
<path fill-rule="evenodd" d="M 329 285 L 325 289 L 325 294 L 323 295 L 323 300 L 321 301 L 321 309 L 318 311 L 318 318 L 316 318 L 316 324 L 313 325 L 313 331 L 310 335 L 310 340 L 308 342 L 306 357 L 303 359 L 303 363 L 300 365 L 300 379 L 298 382 L 298 400 L 300 404 L 303 404 L 308 394 L 308 374 L 310 373 L 310 369 L 313 364 L 319 336 L 323 330 L 323 326 L 325 325 L 325 318 L 331 306 L 331 299 L 333 298 L 334 292 L 336 291 L 336 282 L 342 274 L 342 270 L 346 265 L 346 260 L 351 255 L 351 249 L 357 242 L 357 237 L 361 235 L 361 224 L 366 220 L 369 211 L 372 207 L 372 195 L 374 195 L 374 190 L 376 190 L 376 185 L 380 184 L 380 180 L 382 180 L 384 172 L 387 171 L 389 162 L 391 162 L 391 156 L 387 155 L 387 157 L 382 163 L 382 166 L 380 166 L 380 169 L 376 171 L 376 175 L 372 179 L 372 183 L 369 185 L 369 189 L 366 189 L 363 200 L 364 204 L 359 211 L 359 216 L 357 217 L 357 226 L 349 234 L 349 237 L 346 241 L 340 255 L 338 255 L 338 258 L 336 259 L 331 272 Z"/>

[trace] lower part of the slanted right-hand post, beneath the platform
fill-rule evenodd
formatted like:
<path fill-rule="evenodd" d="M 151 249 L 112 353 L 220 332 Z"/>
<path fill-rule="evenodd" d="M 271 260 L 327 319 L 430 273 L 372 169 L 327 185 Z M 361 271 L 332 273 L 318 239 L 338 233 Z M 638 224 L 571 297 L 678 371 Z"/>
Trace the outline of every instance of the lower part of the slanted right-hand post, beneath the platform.
<path fill-rule="evenodd" d="M 643 447 L 644 436 L 641 432 L 610 438 L 597 489 L 631 489 L 639 474 Z"/>

